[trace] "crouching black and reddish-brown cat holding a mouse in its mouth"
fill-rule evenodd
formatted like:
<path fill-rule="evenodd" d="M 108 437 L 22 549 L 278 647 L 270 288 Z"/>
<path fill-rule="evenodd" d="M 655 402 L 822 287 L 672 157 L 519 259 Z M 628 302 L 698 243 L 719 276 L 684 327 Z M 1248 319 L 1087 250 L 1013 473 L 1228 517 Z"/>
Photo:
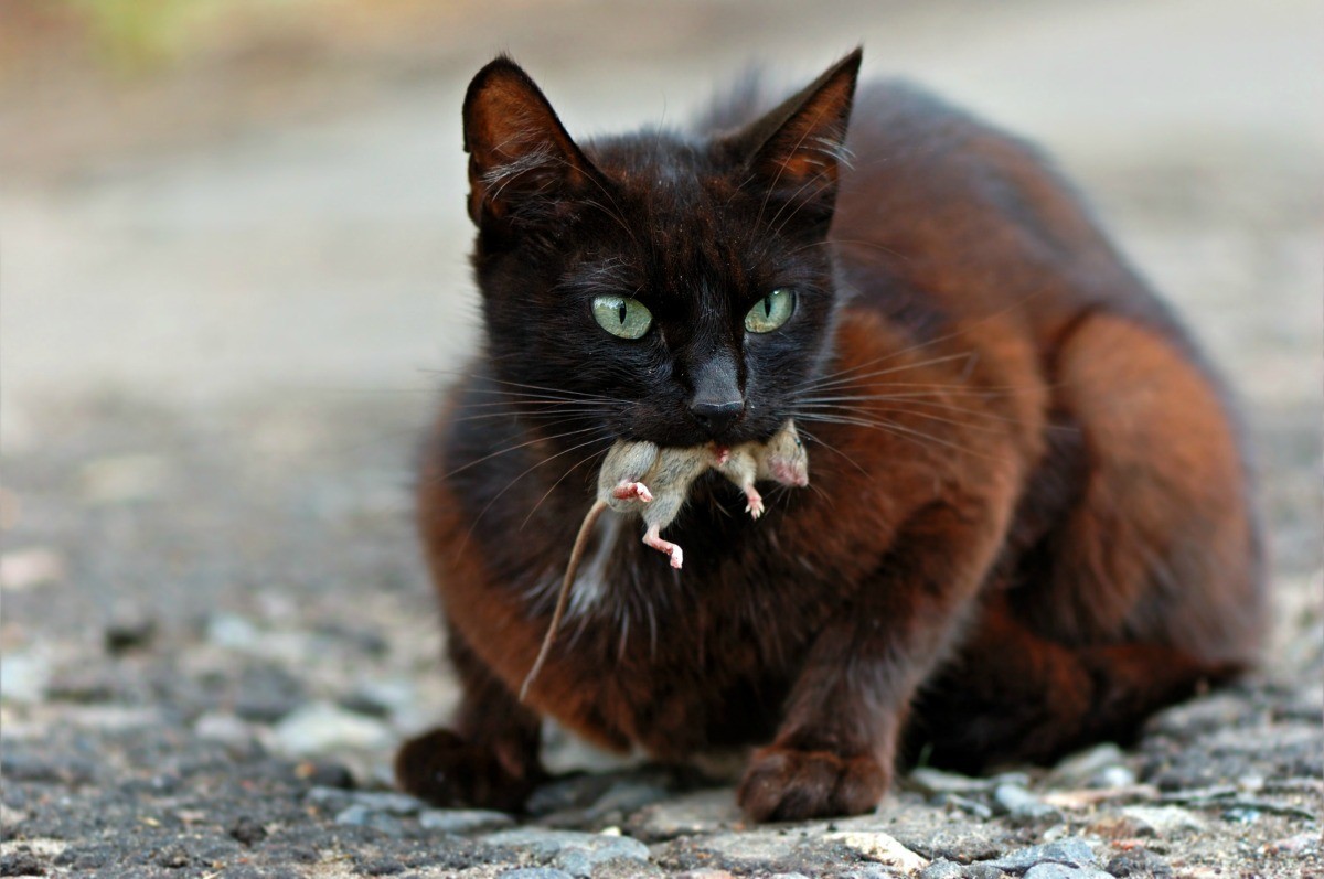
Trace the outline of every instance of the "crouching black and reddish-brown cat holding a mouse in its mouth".
<path fill-rule="evenodd" d="M 753 748 L 752 819 L 859 813 L 919 752 L 1049 763 L 1254 662 L 1222 384 L 1033 148 L 907 85 L 857 94 L 859 64 L 583 144 L 510 58 L 473 79 L 486 336 L 417 488 L 463 695 L 400 749 L 405 790 L 519 809 L 549 716 L 669 763 Z M 753 523 L 698 479 L 683 572 L 605 522 L 519 702 L 610 445 L 788 418 L 809 487 Z"/>

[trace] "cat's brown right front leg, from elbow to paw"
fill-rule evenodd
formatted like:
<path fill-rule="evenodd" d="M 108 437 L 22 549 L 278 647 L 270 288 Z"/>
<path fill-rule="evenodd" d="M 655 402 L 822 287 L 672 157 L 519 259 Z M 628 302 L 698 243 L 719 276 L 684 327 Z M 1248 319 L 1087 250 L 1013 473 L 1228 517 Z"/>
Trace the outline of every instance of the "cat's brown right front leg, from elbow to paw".
<path fill-rule="evenodd" d="M 949 499 L 907 523 L 878 572 L 816 637 L 772 744 L 739 800 L 757 821 L 873 809 L 892 778 L 916 687 L 959 635 L 1006 510 Z"/>

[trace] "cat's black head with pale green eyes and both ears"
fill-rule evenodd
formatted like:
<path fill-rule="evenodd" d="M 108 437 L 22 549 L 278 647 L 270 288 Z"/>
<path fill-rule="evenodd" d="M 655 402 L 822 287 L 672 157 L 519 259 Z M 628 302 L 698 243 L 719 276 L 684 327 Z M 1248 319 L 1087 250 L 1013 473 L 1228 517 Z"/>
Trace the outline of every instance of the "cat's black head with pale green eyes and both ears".
<path fill-rule="evenodd" d="M 859 52 L 706 138 L 577 144 L 508 58 L 465 98 L 490 369 L 606 438 L 765 440 L 826 357 L 826 246 Z M 530 392 L 527 388 L 542 391 Z"/>

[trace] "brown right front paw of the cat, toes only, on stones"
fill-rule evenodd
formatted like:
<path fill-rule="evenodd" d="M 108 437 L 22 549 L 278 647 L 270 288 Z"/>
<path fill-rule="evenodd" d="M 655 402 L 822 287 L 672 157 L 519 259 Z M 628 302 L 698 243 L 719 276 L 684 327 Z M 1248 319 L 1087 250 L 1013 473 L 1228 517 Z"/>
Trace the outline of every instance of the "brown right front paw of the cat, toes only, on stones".
<path fill-rule="evenodd" d="M 769 745 L 753 753 L 737 798 L 755 821 L 805 821 L 869 811 L 890 784 L 873 757 Z"/>

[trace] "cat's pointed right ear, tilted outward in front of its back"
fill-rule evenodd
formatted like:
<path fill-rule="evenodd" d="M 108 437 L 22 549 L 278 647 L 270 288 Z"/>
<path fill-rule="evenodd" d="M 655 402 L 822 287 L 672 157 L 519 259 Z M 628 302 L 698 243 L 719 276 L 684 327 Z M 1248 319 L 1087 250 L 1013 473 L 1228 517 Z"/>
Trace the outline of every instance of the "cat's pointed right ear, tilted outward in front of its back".
<path fill-rule="evenodd" d="M 826 201 L 831 209 L 861 56 L 855 49 L 736 135 L 747 169 L 763 185 L 788 197 Z"/>

